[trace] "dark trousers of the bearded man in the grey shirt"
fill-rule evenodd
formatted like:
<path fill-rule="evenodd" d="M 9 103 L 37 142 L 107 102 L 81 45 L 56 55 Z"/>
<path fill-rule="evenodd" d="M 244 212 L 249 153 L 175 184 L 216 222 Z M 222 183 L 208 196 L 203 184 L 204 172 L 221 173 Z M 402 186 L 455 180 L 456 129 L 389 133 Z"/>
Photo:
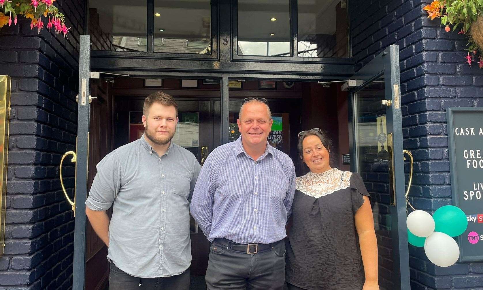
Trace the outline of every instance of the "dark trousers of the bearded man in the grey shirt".
<path fill-rule="evenodd" d="M 180 275 L 139 278 L 127 274 L 111 263 L 109 290 L 188 290 L 190 280 L 189 268 Z M 140 283 L 141 286 L 139 286 Z"/>

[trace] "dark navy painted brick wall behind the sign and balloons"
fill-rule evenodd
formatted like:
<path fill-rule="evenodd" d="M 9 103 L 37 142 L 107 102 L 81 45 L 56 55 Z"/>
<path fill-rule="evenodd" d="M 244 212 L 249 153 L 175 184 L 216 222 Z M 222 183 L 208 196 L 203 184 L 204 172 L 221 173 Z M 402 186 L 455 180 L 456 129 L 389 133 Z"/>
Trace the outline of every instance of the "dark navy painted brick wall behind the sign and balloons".
<path fill-rule="evenodd" d="M 358 67 L 388 45 L 399 45 L 404 148 L 414 156 L 410 201 L 434 212 L 452 203 L 446 108 L 483 106 L 483 69 L 464 63 L 464 35 L 447 33 L 439 20 L 427 18 L 422 8 L 429 2 L 352 0 L 350 18 Z M 410 266 L 412 290 L 483 289 L 483 263 L 442 268 L 410 245 Z"/>

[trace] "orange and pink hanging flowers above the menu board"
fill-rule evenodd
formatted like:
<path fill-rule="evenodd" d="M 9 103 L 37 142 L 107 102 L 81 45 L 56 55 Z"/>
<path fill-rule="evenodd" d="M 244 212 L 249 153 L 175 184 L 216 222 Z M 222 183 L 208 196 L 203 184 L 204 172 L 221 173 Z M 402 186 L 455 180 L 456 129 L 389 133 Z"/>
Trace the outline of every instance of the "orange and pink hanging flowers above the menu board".
<path fill-rule="evenodd" d="M 458 34 L 469 33 L 465 62 L 471 66 L 478 59 L 483 68 L 483 0 L 434 0 L 423 9 L 431 20 L 440 18 L 446 32 L 459 29 Z"/>

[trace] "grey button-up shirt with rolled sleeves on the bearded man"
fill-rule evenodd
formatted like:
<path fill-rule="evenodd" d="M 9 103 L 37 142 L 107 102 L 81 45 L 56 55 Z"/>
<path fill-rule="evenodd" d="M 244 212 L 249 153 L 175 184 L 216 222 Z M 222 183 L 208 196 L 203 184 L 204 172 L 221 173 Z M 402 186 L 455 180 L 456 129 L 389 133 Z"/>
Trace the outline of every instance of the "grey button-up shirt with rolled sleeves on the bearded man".
<path fill-rule="evenodd" d="M 96 168 L 85 205 L 104 211 L 114 203 L 107 258 L 141 278 L 183 273 L 191 264 L 189 200 L 201 169 L 195 156 L 171 143 L 159 157 L 142 135 Z"/>

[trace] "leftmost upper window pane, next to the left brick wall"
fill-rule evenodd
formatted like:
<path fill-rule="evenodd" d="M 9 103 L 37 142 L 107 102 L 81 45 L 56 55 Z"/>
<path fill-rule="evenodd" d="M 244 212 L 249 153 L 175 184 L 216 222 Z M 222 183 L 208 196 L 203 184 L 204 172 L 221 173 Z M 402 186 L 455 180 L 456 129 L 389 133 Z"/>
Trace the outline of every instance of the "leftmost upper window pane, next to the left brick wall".
<path fill-rule="evenodd" d="M 147 0 L 89 1 L 92 49 L 146 51 Z"/>

